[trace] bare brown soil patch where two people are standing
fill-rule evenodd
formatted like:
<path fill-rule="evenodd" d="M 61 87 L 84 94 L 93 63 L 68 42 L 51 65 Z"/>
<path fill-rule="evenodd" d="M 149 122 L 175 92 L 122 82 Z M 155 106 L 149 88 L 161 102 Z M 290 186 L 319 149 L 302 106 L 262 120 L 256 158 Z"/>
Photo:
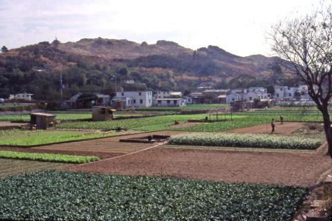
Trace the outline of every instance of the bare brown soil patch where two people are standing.
<path fill-rule="evenodd" d="M 284 122 L 280 124 L 279 122 L 275 123 L 275 134 L 291 134 L 295 130 L 303 127 L 305 123 L 303 122 Z M 268 122 L 268 133 L 271 132 L 271 126 Z M 266 133 L 266 124 L 255 125 L 252 127 L 243 127 L 234 130 L 228 130 L 230 133 L 253 133 L 253 134 L 265 134 Z"/>

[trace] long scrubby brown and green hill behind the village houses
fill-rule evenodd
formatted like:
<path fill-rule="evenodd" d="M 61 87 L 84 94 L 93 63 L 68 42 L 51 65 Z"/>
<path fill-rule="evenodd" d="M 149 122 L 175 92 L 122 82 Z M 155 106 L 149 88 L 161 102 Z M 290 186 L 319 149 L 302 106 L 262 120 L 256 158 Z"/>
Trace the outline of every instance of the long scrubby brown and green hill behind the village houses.
<path fill-rule="evenodd" d="M 37 99 L 58 99 L 59 73 L 65 97 L 77 91 L 110 94 L 115 81 L 125 89 L 145 84 L 152 90 L 229 87 L 230 80 L 241 76 L 250 76 L 253 85 L 290 84 L 283 63 L 277 57 L 240 57 L 218 46 L 192 50 L 165 40 L 156 44 L 100 37 L 66 43 L 55 40 L 0 54 L 0 95 L 28 91 Z"/>

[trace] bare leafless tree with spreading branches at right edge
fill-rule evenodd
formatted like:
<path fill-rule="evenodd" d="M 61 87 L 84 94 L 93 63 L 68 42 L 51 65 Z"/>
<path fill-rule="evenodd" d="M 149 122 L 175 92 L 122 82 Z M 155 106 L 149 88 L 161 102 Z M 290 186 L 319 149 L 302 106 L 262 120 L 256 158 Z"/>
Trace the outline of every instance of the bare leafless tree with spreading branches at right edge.
<path fill-rule="evenodd" d="M 321 3 L 311 14 L 280 21 L 269 34 L 272 49 L 288 61 L 288 70 L 302 78 L 322 112 L 328 153 L 332 157 L 329 101 L 332 97 L 332 10 Z"/>

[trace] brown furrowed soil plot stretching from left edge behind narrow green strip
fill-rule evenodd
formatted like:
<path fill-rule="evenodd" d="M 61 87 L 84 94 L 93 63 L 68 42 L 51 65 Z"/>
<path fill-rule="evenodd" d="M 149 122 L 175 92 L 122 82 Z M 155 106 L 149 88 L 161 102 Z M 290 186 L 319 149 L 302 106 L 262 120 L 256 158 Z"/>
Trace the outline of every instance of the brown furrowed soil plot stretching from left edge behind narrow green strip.
<path fill-rule="evenodd" d="M 128 134 L 124 136 L 113 136 L 103 139 L 93 139 L 89 141 L 76 141 L 71 143 L 59 143 L 53 145 L 43 145 L 35 148 L 8 148 L 0 147 L 0 150 L 12 150 L 22 152 L 48 152 L 58 154 L 73 154 L 73 155 L 91 155 L 106 159 L 109 157 L 116 157 L 129 152 L 136 152 L 149 148 L 155 143 L 121 143 L 120 139 L 132 138 L 138 136 L 148 136 L 151 134 L 158 135 L 172 135 L 183 132 L 176 131 L 160 131 L 160 132 L 145 132 L 137 134 Z"/>

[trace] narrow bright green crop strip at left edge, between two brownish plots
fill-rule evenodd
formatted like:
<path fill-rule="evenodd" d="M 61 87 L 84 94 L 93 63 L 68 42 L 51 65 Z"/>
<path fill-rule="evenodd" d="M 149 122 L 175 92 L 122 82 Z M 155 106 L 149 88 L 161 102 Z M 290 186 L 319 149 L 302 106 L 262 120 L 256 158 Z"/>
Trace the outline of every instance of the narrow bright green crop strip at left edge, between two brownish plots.
<path fill-rule="evenodd" d="M 59 162 L 59 163 L 89 163 L 91 161 L 99 160 L 99 157 L 94 157 L 94 156 L 15 152 L 7 150 L 0 150 L 0 158 L 28 159 L 35 161 L 50 161 L 50 162 Z"/>

